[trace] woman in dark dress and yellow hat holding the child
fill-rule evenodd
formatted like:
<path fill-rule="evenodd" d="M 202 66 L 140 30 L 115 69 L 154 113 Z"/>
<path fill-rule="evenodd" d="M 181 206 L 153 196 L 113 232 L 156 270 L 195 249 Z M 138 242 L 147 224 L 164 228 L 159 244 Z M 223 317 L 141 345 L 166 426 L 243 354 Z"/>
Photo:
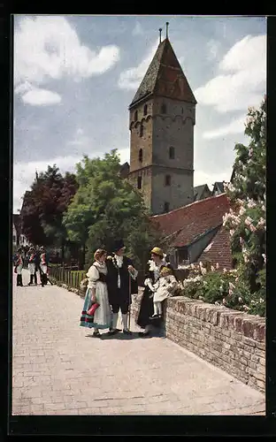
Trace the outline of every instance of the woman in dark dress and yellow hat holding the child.
<path fill-rule="evenodd" d="M 161 248 L 153 248 L 150 252 L 150 257 L 151 259 L 149 260 L 145 271 L 145 289 L 142 294 L 142 300 L 137 317 L 137 324 L 144 329 L 144 331 L 139 332 L 139 336 L 141 338 L 149 335 L 152 325 L 160 327 L 162 324 L 161 317 L 158 316 L 157 318 L 152 318 L 154 313 L 153 293 L 156 290 L 154 284 L 156 284 L 158 278 L 160 277 L 160 270 L 162 267 L 170 266 L 169 263 L 165 262 L 165 255 Z"/>

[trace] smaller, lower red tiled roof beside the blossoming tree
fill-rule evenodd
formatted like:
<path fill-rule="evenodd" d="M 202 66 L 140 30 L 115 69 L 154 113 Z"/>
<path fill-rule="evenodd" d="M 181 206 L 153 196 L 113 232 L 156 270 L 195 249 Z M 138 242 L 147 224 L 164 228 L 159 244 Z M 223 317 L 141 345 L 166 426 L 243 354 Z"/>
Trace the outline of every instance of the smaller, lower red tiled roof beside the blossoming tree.
<path fill-rule="evenodd" d="M 210 248 L 211 246 L 211 248 Z M 211 239 L 209 247 L 204 251 L 202 255 L 196 260 L 197 263 L 202 261 L 210 261 L 212 264 L 219 263 L 219 268 L 222 270 L 224 267 L 227 270 L 233 268 L 232 266 L 232 255 L 231 255 L 231 245 L 229 232 L 226 231 L 225 227 L 222 225 L 219 232 Z"/>

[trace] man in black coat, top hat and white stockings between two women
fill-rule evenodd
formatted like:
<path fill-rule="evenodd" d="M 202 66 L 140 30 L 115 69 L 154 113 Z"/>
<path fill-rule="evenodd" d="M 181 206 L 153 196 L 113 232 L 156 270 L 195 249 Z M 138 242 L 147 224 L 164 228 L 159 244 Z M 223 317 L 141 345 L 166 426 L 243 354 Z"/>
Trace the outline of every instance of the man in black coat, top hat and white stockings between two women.
<path fill-rule="evenodd" d="M 109 334 L 115 334 L 117 329 L 119 309 L 123 320 L 123 332 L 131 334 L 127 326 L 127 312 L 131 304 L 131 294 L 138 293 L 137 274 L 133 262 L 125 255 L 123 240 L 116 240 L 113 253 L 107 256 L 107 289 L 112 309 L 112 327 Z"/>

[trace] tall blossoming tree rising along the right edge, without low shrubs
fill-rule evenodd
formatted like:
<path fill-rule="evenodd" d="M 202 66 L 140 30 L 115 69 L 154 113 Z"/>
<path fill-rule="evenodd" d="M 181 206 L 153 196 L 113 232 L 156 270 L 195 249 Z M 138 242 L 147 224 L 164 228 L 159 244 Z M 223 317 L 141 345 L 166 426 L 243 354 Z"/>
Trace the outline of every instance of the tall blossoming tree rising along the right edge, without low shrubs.
<path fill-rule="evenodd" d="M 237 144 L 233 183 L 226 186 L 232 209 L 224 217 L 229 229 L 240 283 L 250 293 L 249 312 L 265 312 L 266 263 L 266 97 L 259 109 L 249 108 L 245 133 L 249 146 Z"/>

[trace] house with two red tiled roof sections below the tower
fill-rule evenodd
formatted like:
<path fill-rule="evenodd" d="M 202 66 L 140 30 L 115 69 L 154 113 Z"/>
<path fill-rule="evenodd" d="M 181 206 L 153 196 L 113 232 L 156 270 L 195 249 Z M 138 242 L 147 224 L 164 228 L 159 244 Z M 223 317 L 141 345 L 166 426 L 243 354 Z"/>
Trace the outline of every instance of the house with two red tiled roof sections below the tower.
<path fill-rule="evenodd" d="M 219 194 L 150 218 L 165 235 L 162 246 L 174 268 L 198 261 L 232 268 L 229 233 L 222 225 L 229 210 L 226 194 Z"/>

